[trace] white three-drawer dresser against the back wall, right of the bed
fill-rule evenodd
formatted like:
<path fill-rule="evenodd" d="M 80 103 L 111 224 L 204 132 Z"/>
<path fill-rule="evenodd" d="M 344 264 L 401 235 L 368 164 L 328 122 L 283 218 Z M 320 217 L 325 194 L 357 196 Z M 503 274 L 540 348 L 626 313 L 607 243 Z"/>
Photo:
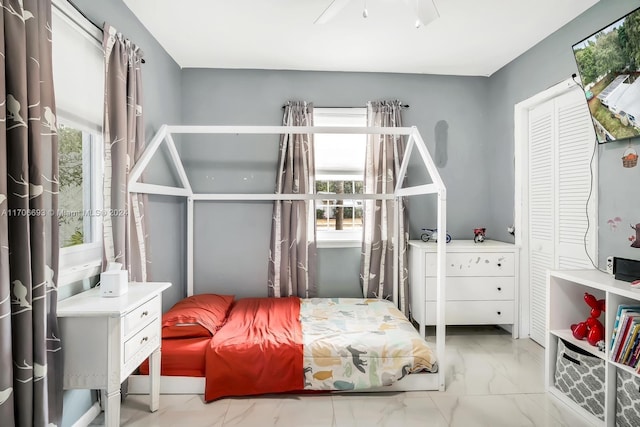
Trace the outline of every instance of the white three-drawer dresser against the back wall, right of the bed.
<path fill-rule="evenodd" d="M 452 240 L 447 243 L 447 325 L 501 325 L 517 338 L 518 250 L 510 243 Z M 411 313 L 420 325 L 435 325 L 436 243 L 409 241 Z M 425 293 L 426 289 L 426 293 Z"/>

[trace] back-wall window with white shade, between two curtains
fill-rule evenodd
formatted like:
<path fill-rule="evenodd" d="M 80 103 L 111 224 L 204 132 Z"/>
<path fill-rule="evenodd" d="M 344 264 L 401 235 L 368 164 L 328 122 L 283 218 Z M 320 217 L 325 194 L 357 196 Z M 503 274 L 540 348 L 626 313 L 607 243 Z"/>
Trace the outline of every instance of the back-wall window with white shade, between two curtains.
<path fill-rule="evenodd" d="M 315 126 L 367 126 L 366 108 L 316 108 Z M 362 199 L 335 197 L 362 194 L 366 135 L 315 134 L 316 234 L 320 247 L 359 246 L 362 241 Z"/>

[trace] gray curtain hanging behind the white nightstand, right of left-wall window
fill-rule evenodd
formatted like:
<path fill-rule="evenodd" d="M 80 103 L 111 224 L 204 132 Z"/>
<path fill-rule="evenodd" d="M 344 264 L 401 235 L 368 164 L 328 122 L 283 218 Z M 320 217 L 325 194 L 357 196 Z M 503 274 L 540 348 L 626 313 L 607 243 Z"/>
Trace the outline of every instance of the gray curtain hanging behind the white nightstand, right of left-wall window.
<path fill-rule="evenodd" d="M 146 197 L 127 195 L 129 171 L 145 147 L 142 118 L 143 53 L 105 25 L 104 261 L 124 264 L 131 281 L 149 279 Z"/>

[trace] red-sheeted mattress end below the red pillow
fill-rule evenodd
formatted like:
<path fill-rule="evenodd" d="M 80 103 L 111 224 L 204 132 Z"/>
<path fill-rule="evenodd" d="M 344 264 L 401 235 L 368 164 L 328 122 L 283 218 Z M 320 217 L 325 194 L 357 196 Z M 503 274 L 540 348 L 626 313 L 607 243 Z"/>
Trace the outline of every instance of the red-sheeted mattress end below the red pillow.
<path fill-rule="evenodd" d="M 204 377 L 205 351 L 211 337 L 163 339 L 160 375 Z M 140 373 L 149 375 L 149 361 L 140 365 Z"/>

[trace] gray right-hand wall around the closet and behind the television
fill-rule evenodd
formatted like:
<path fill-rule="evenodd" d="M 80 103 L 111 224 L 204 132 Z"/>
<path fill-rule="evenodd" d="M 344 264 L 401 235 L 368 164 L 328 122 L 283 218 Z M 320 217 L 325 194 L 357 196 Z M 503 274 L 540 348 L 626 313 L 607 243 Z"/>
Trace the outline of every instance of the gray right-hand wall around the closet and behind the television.
<path fill-rule="evenodd" d="M 486 157 L 488 173 L 488 191 L 491 215 L 487 223 L 490 230 L 496 230 L 498 240 L 512 242 L 506 227 L 513 223 L 514 206 L 514 105 L 531 96 L 570 78 L 577 73 L 572 46 L 605 25 L 617 20 L 624 14 L 638 7 L 635 0 L 602 0 L 576 19 L 544 39 L 526 53 L 494 73 L 489 78 L 488 104 L 492 106 L 490 137 L 486 140 Z M 517 36 L 517 35 L 514 35 Z M 594 136 L 595 137 L 595 136 Z M 617 193 L 619 183 L 625 181 L 633 171 L 621 171 L 622 167 L 609 166 L 609 155 L 615 157 L 620 149 L 614 149 L 621 143 L 600 147 L 600 213 L 599 218 L 605 223 L 609 215 L 605 204 L 611 197 L 628 203 L 635 198 L 622 199 L 624 194 Z M 624 145 L 627 143 L 625 142 Z M 635 173 L 637 177 L 637 172 Z M 609 183 L 618 183 L 611 184 Z M 636 205 L 637 206 L 637 205 Z M 629 221 L 638 222 L 640 218 Z M 635 224 L 634 222 L 634 224 Z M 628 229 L 629 225 L 626 224 Z M 627 230 L 629 231 L 629 230 Z M 617 240 L 617 239 L 616 239 Z M 619 244 L 611 241 L 611 235 L 601 226 L 599 228 L 599 253 L 602 261 L 607 254 L 618 254 Z M 638 255 L 635 256 L 636 258 Z"/>

